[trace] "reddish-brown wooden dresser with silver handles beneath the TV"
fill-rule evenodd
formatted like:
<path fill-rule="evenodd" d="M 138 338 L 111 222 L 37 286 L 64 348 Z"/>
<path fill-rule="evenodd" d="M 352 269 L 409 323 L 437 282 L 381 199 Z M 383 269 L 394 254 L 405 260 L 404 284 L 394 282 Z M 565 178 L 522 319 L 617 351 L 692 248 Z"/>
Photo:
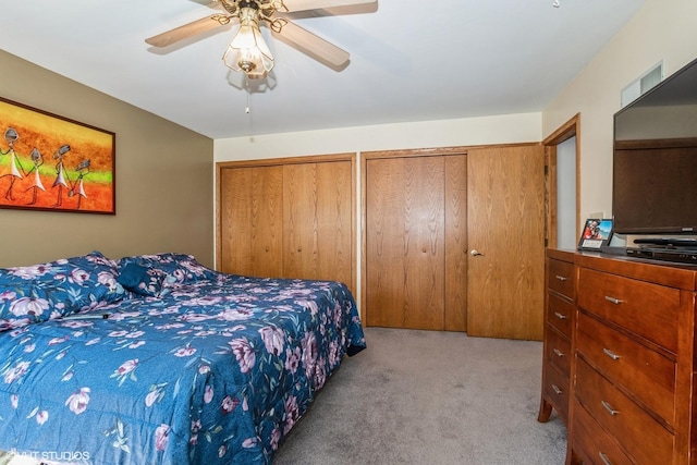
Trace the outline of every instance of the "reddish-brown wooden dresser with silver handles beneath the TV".
<path fill-rule="evenodd" d="M 540 420 L 546 402 L 562 417 L 568 408 L 567 464 L 697 464 L 697 267 L 571 255 L 576 278 L 571 394 L 568 404 L 558 406 L 545 384 Z M 567 254 L 548 253 L 548 274 L 552 260 L 563 257 Z M 551 341 L 554 334 L 548 333 Z M 546 338 L 546 347 L 550 341 Z M 551 365 L 546 352 L 543 372 Z"/>

